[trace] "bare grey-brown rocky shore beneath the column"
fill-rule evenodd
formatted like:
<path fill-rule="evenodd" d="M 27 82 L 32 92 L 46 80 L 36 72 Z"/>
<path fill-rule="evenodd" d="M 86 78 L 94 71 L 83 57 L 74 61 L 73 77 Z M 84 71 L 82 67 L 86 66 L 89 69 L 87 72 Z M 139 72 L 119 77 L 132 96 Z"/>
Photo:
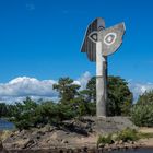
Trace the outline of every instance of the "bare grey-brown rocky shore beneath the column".
<path fill-rule="evenodd" d="M 89 148 L 96 146 L 96 137 L 98 134 L 117 132 L 131 125 L 130 121 L 126 123 L 125 119 L 127 121 L 127 118 L 123 117 L 107 117 L 106 119 L 98 119 L 89 116 L 67 121 L 64 120 L 58 127 L 40 125 L 38 128 L 32 128 L 31 130 L 14 131 L 12 136 L 3 141 L 3 146 L 10 150 L 37 148 L 49 149 L 50 146 L 74 146 L 76 149 L 82 149 L 82 146 L 85 145 L 89 151 Z M 106 145 L 102 143 L 98 148 L 102 150 L 107 148 L 108 150 L 110 146 L 115 145 L 121 148 L 125 144 L 122 140 L 118 142 L 113 141 L 111 143 L 113 144 Z"/>

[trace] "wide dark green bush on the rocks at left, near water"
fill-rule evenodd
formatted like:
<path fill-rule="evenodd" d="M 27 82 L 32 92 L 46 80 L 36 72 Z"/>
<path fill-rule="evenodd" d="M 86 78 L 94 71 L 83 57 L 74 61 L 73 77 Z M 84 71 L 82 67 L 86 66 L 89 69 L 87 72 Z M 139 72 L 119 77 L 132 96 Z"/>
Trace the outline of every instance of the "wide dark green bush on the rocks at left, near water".
<path fill-rule="evenodd" d="M 52 102 L 36 103 L 26 98 L 23 104 L 16 103 L 10 121 L 20 130 L 30 129 L 47 123 L 59 126 L 62 120 L 74 118 L 76 113 L 70 105 L 55 104 Z"/>

